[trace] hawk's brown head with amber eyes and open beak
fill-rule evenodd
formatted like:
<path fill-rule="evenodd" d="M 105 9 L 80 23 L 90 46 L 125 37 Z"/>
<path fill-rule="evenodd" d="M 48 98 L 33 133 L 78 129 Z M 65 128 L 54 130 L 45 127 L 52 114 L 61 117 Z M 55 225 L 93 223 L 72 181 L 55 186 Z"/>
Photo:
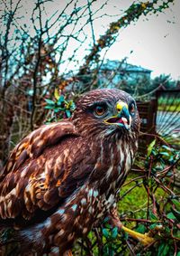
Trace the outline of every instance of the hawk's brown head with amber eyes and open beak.
<path fill-rule="evenodd" d="M 85 93 L 72 116 L 79 132 L 110 135 L 139 131 L 135 100 L 123 90 L 102 89 Z"/>

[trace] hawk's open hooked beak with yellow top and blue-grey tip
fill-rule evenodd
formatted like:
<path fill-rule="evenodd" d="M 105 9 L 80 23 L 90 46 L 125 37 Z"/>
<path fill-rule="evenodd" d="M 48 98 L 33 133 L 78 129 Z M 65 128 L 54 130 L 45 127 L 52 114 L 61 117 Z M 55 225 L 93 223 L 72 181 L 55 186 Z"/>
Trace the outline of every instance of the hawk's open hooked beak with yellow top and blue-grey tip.
<path fill-rule="evenodd" d="M 116 110 L 117 115 L 112 116 L 110 119 L 104 120 L 104 123 L 130 129 L 131 117 L 128 105 L 125 102 L 118 101 L 116 104 Z"/>

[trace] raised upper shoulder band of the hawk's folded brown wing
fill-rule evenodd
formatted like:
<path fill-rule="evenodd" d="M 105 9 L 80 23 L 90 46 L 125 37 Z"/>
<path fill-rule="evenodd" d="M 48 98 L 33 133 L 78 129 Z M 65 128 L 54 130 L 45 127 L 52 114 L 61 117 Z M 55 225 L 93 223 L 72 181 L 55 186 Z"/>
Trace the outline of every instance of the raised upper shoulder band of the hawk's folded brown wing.
<path fill-rule="evenodd" d="M 46 147 L 57 144 L 62 137 L 67 135 L 76 135 L 74 125 L 69 121 L 43 125 L 31 132 L 29 136 L 24 137 L 23 140 L 14 147 L 4 167 L 3 173 L 0 174 L 0 181 L 2 177 L 10 172 L 14 172 L 22 166 L 25 160 L 40 156 Z"/>

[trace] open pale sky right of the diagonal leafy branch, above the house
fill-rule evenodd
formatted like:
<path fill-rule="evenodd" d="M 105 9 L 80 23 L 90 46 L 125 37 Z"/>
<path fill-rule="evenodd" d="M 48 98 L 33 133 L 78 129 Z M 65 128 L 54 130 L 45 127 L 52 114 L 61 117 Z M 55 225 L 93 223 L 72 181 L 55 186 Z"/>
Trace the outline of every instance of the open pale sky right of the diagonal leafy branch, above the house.
<path fill-rule="evenodd" d="M 132 1 L 112 2 L 111 13 L 115 12 L 113 7 L 124 8 Z M 175 5 L 170 6 L 158 16 L 148 15 L 148 21 L 140 17 L 136 24 L 123 29 L 106 57 L 118 60 L 128 56 L 128 62 L 152 70 L 152 77 L 165 73 L 171 74 L 173 79 L 180 79 L 180 0 L 175 0 Z"/>

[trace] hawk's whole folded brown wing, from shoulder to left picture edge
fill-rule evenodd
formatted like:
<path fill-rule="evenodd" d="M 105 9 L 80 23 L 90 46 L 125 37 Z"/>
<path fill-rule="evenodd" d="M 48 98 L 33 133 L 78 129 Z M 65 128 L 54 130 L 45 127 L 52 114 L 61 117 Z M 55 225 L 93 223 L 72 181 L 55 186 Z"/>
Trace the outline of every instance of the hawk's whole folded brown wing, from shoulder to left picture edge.
<path fill-rule="evenodd" d="M 81 174 L 78 166 L 82 161 L 76 156 L 83 157 L 83 145 L 77 143 L 71 148 L 76 138 L 75 127 L 69 121 L 42 126 L 23 138 L 0 175 L 1 218 L 31 220 L 34 213 L 50 211 L 82 185 L 88 175 L 84 172 L 85 161 L 91 154 L 85 154 L 88 159 Z"/>

